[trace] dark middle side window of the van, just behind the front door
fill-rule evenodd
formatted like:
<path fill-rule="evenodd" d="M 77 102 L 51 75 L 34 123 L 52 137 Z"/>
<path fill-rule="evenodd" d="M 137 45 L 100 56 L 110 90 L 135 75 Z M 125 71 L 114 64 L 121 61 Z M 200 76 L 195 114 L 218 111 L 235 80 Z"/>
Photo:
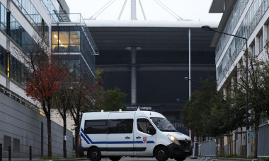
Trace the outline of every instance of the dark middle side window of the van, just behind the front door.
<path fill-rule="evenodd" d="M 108 133 L 132 133 L 133 119 L 109 119 Z"/>

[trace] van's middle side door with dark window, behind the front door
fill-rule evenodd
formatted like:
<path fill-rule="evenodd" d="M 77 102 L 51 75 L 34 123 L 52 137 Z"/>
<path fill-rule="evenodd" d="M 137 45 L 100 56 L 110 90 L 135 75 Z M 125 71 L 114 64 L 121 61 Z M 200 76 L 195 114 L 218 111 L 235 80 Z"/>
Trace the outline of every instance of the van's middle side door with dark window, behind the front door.
<path fill-rule="evenodd" d="M 108 155 L 134 155 L 135 112 L 110 112 L 108 116 Z"/>

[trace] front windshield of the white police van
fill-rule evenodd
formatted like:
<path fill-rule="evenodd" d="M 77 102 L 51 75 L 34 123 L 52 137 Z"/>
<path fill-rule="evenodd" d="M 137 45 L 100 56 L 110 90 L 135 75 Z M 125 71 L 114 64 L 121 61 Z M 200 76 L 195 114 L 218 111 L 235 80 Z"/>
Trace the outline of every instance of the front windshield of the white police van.
<path fill-rule="evenodd" d="M 173 131 L 177 132 L 176 128 L 166 119 L 160 117 L 150 118 L 160 131 Z"/>

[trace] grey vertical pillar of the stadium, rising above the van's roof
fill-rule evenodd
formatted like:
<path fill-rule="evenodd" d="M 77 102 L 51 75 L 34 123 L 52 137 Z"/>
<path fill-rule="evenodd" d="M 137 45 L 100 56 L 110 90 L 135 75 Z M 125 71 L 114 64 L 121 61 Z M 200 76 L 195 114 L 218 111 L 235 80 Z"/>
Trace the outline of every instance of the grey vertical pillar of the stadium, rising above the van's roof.
<path fill-rule="evenodd" d="M 137 104 L 137 47 L 131 47 L 131 103 Z"/>

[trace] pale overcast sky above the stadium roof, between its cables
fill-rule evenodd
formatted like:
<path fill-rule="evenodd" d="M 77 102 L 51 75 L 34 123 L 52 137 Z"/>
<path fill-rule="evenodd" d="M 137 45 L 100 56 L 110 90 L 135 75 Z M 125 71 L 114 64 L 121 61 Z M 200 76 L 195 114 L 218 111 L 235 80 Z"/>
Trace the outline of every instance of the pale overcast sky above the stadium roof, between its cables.
<path fill-rule="evenodd" d="M 110 0 L 66 0 L 70 13 L 81 13 L 83 18 L 90 18 Z M 114 1 L 114 0 L 113 0 Z M 130 1 L 127 1 L 120 20 L 130 20 Z M 140 0 L 147 20 L 176 20 L 171 14 L 161 8 L 156 1 Z M 189 20 L 218 21 L 222 13 L 208 13 L 212 0 L 159 0 L 171 9 L 177 16 Z M 125 0 L 115 0 L 96 20 L 118 20 Z M 139 0 L 137 0 L 137 19 L 144 20 Z"/>

